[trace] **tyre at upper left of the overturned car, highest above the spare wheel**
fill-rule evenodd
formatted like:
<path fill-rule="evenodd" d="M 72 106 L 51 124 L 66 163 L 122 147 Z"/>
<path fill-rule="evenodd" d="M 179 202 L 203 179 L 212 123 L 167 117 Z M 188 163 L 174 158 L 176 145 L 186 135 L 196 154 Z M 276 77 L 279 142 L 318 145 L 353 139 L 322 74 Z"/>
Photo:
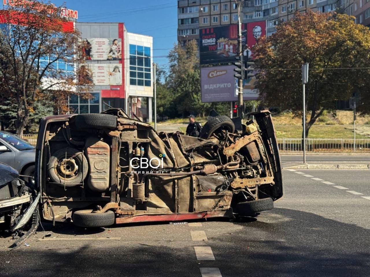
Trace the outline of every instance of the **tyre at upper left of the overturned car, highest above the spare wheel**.
<path fill-rule="evenodd" d="M 75 126 L 81 129 L 88 128 L 115 128 L 117 117 L 111 114 L 89 113 L 78 114 L 75 118 Z"/>

